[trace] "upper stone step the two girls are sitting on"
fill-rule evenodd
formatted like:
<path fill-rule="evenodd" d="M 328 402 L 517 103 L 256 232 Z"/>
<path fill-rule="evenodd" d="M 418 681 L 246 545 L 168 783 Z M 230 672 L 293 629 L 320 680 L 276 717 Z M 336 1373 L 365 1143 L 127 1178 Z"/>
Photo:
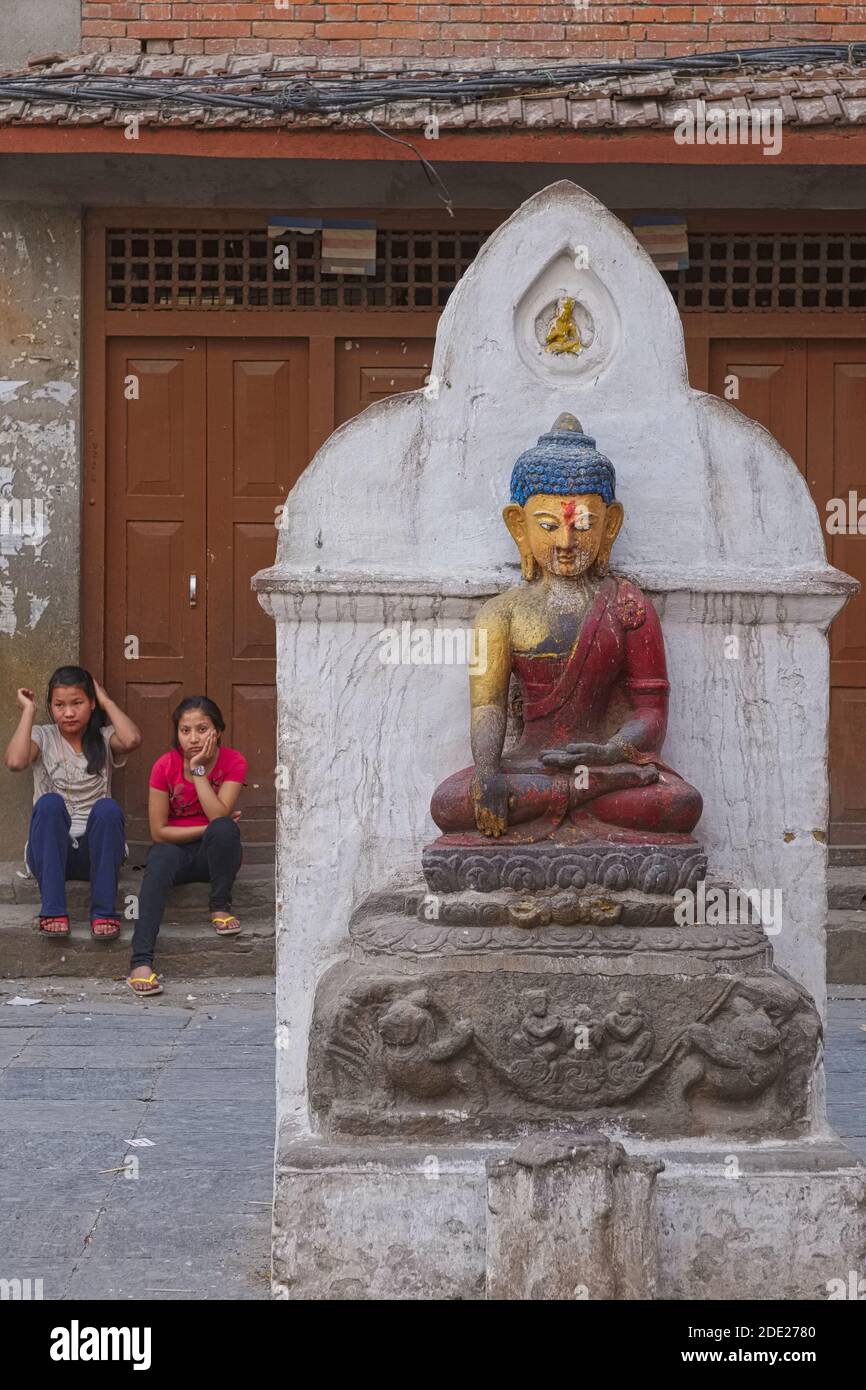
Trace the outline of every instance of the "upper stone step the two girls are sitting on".
<path fill-rule="evenodd" d="M 21 863 L 0 863 L 0 903 L 39 906 L 39 884 L 35 878 L 21 878 Z M 118 910 L 121 916 L 128 906 L 126 898 L 142 891 L 142 869 L 125 867 L 118 883 Z M 86 883 L 67 883 L 67 905 L 71 917 L 85 917 L 88 913 L 90 887 Z M 239 917 L 253 915 L 274 916 L 274 866 L 247 863 L 235 878 L 232 908 Z M 207 884 L 185 883 L 172 888 L 168 898 L 165 920 L 188 922 L 200 919 L 207 910 Z"/>

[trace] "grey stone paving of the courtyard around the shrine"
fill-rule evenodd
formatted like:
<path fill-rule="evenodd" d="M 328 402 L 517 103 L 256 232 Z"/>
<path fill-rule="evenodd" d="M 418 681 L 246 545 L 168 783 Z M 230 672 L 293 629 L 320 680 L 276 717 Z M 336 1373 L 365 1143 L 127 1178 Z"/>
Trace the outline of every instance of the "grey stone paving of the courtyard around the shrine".
<path fill-rule="evenodd" d="M 267 1298 L 272 980 L 121 990 L 0 981 L 0 1277 L 46 1298 Z M 866 990 L 834 994 L 830 1111 L 866 1162 Z M 107 1172 L 126 1155 L 138 1179 Z"/>

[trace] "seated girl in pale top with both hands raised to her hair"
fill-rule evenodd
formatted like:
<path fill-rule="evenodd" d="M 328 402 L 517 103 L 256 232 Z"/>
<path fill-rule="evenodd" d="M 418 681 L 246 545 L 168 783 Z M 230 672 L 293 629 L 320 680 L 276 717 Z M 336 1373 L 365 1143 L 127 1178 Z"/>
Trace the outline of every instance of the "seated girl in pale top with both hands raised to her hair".
<path fill-rule="evenodd" d="M 90 935 L 120 935 L 117 880 L 124 860 L 124 813 L 111 799 L 111 770 L 142 735 L 81 666 L 61 666 L 49 681 L 50 724 L 35 724 L 33 691 L 17 694 L 21 719 L 6 749 L 10 771 L 33 769 L 33 812 L 26 862 L 39 881 L 39 930 L 68 937 L 65 881 L 90 881 Z"/>

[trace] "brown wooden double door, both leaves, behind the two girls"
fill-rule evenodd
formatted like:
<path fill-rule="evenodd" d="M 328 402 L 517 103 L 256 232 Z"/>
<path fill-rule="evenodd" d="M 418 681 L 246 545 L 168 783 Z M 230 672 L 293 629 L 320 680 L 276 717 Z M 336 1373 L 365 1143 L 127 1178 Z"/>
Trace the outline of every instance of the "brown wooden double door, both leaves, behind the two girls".
<path fill-rule="evenodd" d="M 272 842 L 275 628 L 250 577 L 309 461 L 306 342 L 113 339 L 107 386 L 104 678 L 143 734 L 117 778 L 128 838 L 149 840 L 150 767 L 202 694 L 249 760 L 245 840 Z"/>

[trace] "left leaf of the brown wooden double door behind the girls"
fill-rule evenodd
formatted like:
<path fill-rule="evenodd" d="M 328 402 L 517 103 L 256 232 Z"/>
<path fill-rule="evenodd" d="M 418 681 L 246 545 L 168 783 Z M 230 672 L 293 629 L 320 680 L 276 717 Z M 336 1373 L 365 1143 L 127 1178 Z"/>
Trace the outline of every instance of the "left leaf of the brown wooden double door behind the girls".
<path fill-rule="evenodd" d="M 147 783 L 170 746 L 170 714 L 204 688 L 206 345 L 200 338 L 111 341 L 107 363 L 106 660 L 108 694 L 143 746 L 117 774 L 126 835 L 149 838 Z"/>

